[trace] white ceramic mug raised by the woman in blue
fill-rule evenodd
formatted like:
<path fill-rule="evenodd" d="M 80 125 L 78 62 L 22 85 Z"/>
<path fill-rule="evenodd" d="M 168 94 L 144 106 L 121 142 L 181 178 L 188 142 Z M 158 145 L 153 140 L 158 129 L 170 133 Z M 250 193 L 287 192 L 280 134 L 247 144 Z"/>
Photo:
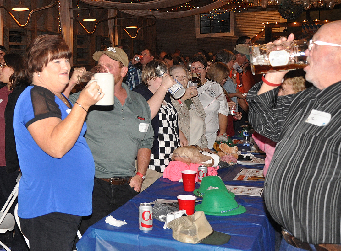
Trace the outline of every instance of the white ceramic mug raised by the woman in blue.
<path fill-rule="evenodd" d="M 89 83 L 96 81 L 102 89 L 104 97 L 99 100 L 95 105 L 98 106 L 112 106 L 114 105 L 114 75 L 111 73 L 95 73 L 95 79 L 89 81 Z"/>

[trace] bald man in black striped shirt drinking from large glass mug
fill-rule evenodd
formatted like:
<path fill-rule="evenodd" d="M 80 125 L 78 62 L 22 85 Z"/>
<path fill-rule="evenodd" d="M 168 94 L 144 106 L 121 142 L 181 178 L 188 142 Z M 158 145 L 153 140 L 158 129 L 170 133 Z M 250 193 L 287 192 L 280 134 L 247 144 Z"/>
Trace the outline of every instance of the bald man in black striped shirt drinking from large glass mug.
<path fill-rule="evenodd" d="M 253 128 L 278 142 L 264 199 L 283 228 L 280 250 L 341 250 L 340 30 L 341 20 L 323 25 L 305 51 L 314 87 L 277 96 L 286 72 L 276 72 L 248 93 Z"/>

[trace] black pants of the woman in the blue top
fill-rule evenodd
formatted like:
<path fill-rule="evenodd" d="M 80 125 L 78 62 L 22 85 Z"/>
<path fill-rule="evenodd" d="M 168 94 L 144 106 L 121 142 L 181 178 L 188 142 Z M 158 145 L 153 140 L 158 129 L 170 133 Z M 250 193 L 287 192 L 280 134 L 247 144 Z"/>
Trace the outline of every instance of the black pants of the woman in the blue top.
<path fill-rule="evenodd" d="M 20 225 L 30 242 L 30 251 L 71 251 L 81 218 L 54 212 L 30 219 L 20 218 Z"/>

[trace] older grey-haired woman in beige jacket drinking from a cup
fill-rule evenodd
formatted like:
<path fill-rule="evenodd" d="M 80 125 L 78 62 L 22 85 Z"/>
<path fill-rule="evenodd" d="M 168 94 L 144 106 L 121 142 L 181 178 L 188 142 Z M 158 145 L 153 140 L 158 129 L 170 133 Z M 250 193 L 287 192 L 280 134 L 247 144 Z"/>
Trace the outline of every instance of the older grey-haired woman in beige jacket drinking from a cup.
<path fill-rule="evenodd" d="M 189 73 L 182 65 L 174 65 L 169 69 L 169 74 L 175 77 L 184 88 L 187 88 Z M 178 100 L 171 98 L 172 104 L 178 112 L 179 130 L 183 132 L 189 145 L 198 145 L 202 149 L 207 148 L 205 137 L 206 126 L 204 107 L 197 97 L 196 87 L 189 87 L 186 93 Z"/>

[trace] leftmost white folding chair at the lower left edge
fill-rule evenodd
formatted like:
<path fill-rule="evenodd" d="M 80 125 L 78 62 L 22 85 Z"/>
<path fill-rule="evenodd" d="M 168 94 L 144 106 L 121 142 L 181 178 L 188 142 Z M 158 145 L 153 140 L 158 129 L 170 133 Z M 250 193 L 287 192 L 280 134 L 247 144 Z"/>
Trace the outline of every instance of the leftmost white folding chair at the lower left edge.
<path fill-rule="evenodd" d="M 7 231 L 12 231 L 14 229 L 15 220 L 14 216 L 11 213 L 8 213 L 11 206 L 13 205 L 15 199 L 18 197 L 18 187 L 19 187 L 19 180 L 21 177 L 21 173 L 19 173 L 17 177 L 17 184 L 15 185 L 14 189 L 12 190 L 10 196 L 8 197 L 6 203 L 3 205 L 2 209 L 0 210 L 0 233 L 4 234 Z M 0 241 L 0 245 L 7 251 L 11 251 L 2 241 Z"/>

